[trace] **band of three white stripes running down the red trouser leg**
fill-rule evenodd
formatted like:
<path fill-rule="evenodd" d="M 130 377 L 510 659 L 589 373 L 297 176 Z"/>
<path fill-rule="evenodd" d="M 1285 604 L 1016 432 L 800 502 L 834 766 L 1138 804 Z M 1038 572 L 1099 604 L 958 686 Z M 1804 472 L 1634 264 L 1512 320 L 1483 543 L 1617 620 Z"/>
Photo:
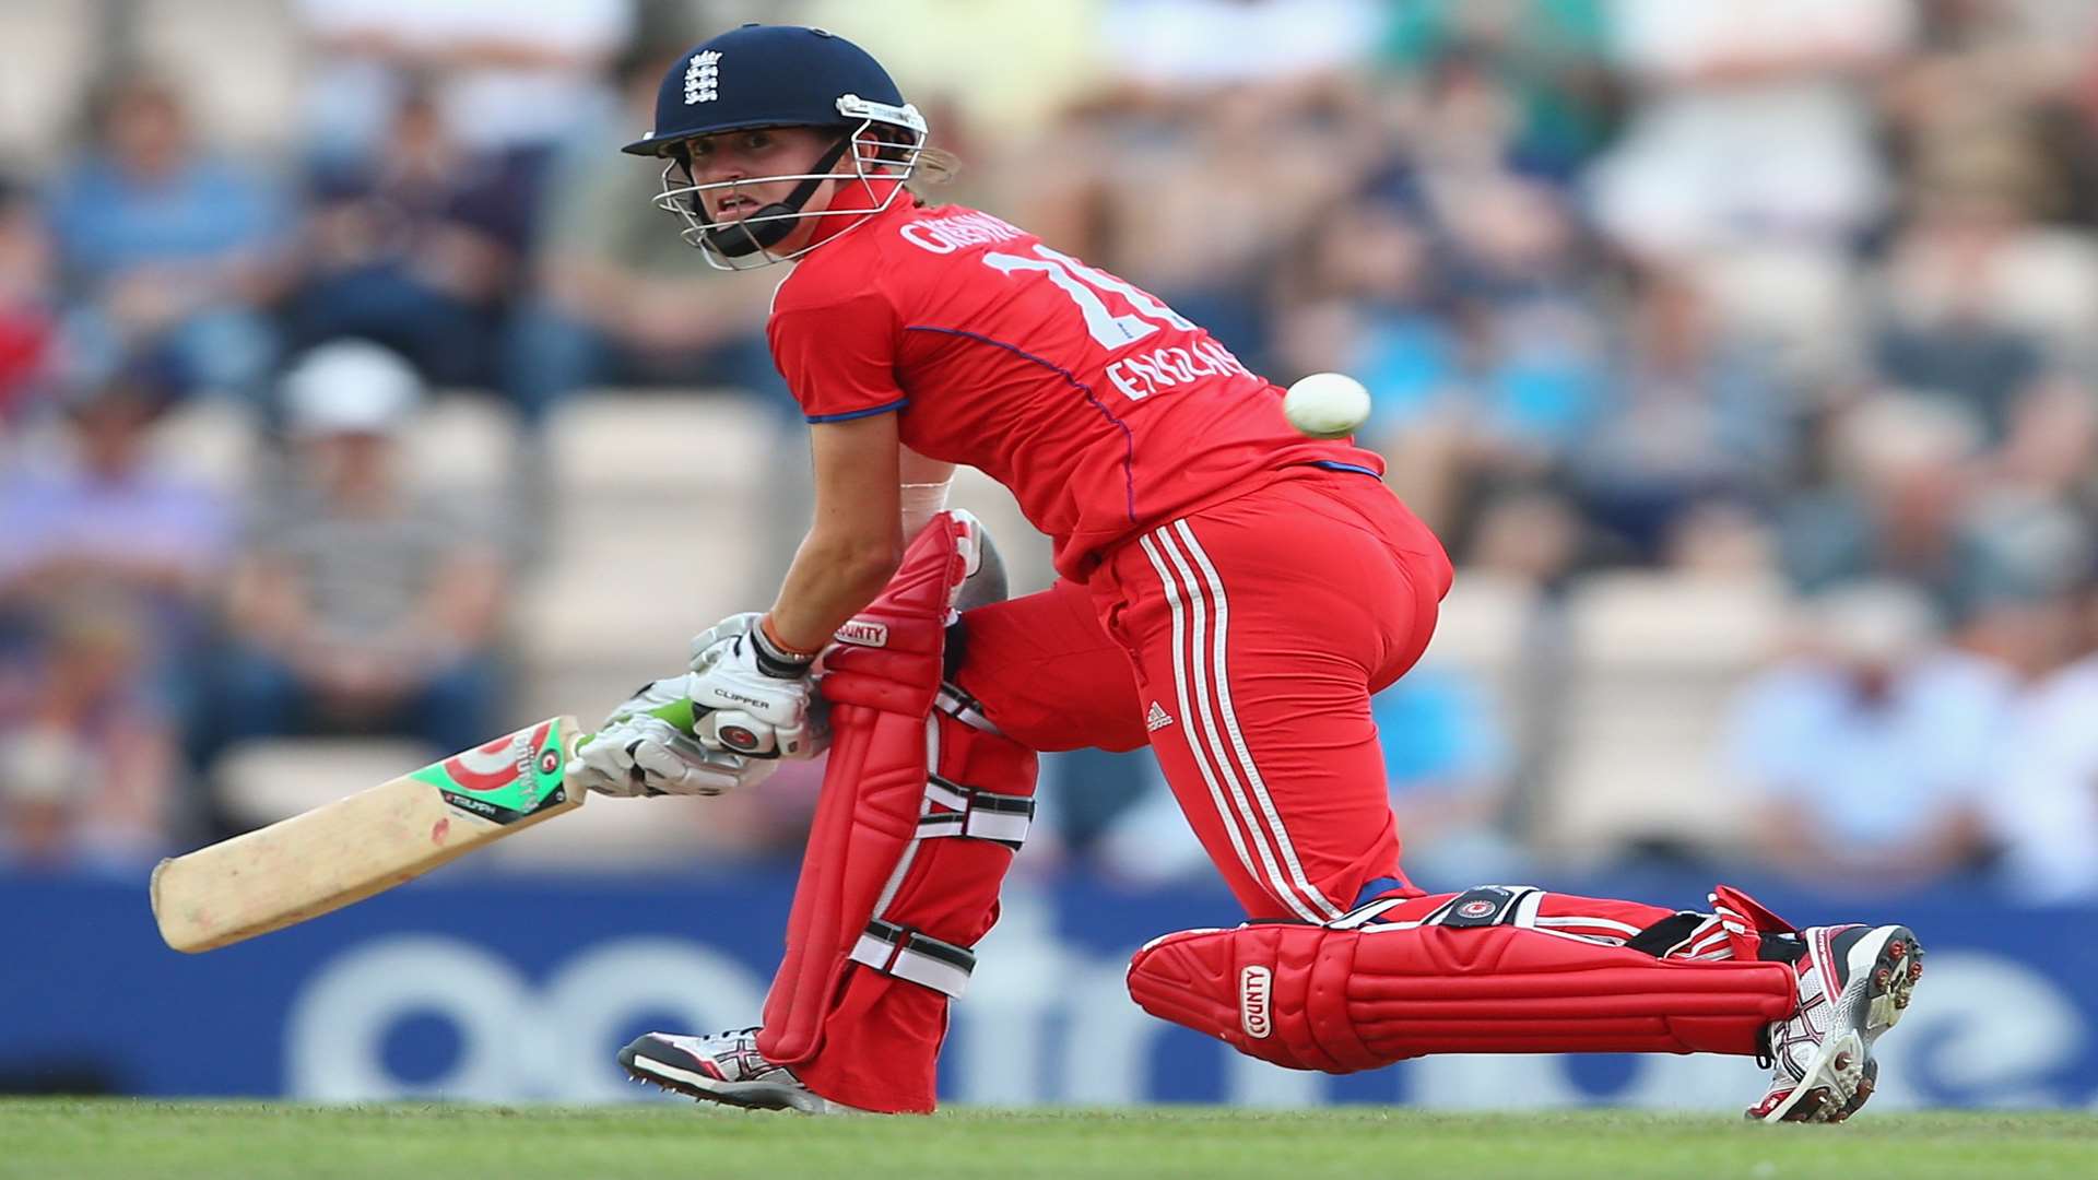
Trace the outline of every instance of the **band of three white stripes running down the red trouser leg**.
<path fill-rule="evenodd" d="M 1139 544 L 1143 546 L 1143 554 L 1150 559 L 1152 569 L 1158 573 L 1158 580 L 1164 584 L 1166 605 L 1173 611 L 1173 689 L 1181 708 L 1187 752 L 1194 754 L 1196 768 L 1208 785 L 1211 800 L 1217 804 L 1219 819 L 1223 819 L 1225 834 L 1232 838 L 1232 848 L 1238 852 L 1246 876 L 1255 880 L 1265 878 L 1269 892 L 1305 922 L 1339 918 L 1341 909 L 1326 901 L 1326 897 L 1322 897 L 1305 880 L 1303 865 L 1297 859 L 1297 848 L 1290 844 L 1288 831 L 1282 827 L 1282 817 L 1276 813 L 1273 798 L 1267 794 L 1267 783 L 1261 781 L 1259 768 L 1253 764 L 1250 752 L 1246 752 L 1244 737 L 1238 729 L 1238 714 L 1232 710 L 1229 682 L 1225 678 L 1229 603 L 1223 596 L 1223 582 L 1208 563 L 1208 554 L 1200 552 L 1200 546 L 1194 542 L 1194 533 L 1185 527 L 1185 521 L 1179 521 L 1177 527 L 1187 546 L 1198 554 L 1198 561 L 1208 575 L 1208 590 L 1215 600 L 1217 615 L 1217 626 L 1208 645 L 1204 645 L 1204 636 L 1208 634 L 1208 603 L 1204 603 L 1202 592 L 1204 584 L 1196 580 L 1194 569 L 1175 544 L 1175 525 L 1139 538 Z M 1185 605 L 1181 594 L 1185 594 Z M 1204 655 L 1208 659 L 1204 659 Z M 1190 668 L 1194 670 L 1192 693 Z M 1215 695 L 1208 689 L 1211 668 L 1215 668 L 1217 678 Z M 1190 708 L 1190 695 L 1194 697 L 1194 708 Z M 1219 714 L 1223 716 L 1221 731 L 1217 724 Z M 1240 775 L 1240 764 L 1234 764 L 1223 733 L 1232 735 L 1244 775 Z M 1253 787 L 1253 798 L 1246 794 L 1248 783 Z M 1253 800 L 1259 800 L 1259 810 L 1255 810 Z M 1267 817 L 1267 829 L 1261 827 L 1259 815 Z M 1246 842 L 1240 838 L 1240 825 L 1253 840 L 1253 852 L 1248 852 Z M 1273 834 L 1271 842 L 1269 834 Z M 1282 855 L 1280 863 L 1276 859 L 1278 850 Z M 1259 867 L 1255 867 L 1255 855 L 1259 857 Z"/>

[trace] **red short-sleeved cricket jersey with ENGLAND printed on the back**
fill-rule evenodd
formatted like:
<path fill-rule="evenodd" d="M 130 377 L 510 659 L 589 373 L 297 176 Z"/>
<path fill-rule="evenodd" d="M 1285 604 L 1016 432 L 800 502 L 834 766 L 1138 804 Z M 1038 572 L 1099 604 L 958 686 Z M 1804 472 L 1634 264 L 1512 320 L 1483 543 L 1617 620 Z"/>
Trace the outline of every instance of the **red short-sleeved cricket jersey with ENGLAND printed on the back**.
<path fill-rule="evenodd" d="M 1116 542 L 1294 464 L 1385 470 L 1299 435 L 1282 388 L 1150 294 L 906 193 L 795 265 L 768 336 L 810 422 L 896 412 L 904 445 L 1011 489 L 1074 580 Z"/>

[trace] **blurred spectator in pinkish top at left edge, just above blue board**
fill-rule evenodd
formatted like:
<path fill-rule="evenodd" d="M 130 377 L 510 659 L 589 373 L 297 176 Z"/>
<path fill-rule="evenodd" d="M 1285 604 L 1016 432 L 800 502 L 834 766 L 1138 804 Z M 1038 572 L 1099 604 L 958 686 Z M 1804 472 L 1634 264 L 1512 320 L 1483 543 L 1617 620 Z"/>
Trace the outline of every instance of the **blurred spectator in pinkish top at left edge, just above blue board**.
<path fill-rule="evenodd" d="M 143 691 L 143 619 L 76 594 L 0 663 L 0 865 L 136 871 L 164 852 L 178 743 Z"/>

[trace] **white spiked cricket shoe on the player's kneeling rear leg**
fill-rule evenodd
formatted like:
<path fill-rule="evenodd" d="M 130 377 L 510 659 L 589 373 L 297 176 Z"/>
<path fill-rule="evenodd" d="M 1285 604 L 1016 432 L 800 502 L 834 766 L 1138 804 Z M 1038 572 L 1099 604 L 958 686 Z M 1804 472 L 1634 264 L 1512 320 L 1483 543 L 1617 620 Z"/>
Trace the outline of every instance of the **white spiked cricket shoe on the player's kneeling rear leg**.
<path fill-rule="evenodd" d="M 1871 1044 L 1907 1010 L 1924 947 L 1907 926 L 1808 926 L 1798 936 L 1800 1010 L 1764 1031 L 1775 1069 L 1748 1117 L 1840 1123 L 1871 1098 Z"/>

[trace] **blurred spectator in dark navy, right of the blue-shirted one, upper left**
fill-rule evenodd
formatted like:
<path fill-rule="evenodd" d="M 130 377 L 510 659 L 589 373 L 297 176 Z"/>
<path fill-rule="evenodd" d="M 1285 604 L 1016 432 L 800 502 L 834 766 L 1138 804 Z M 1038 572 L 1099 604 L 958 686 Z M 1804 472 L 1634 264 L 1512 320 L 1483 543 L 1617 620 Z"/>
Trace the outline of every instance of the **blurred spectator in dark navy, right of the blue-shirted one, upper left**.
<path fill-rule="evenodd" d="M 529 235 L 516 181 L 453 143 L 428 92 L 407 94 L 373 155 L 313 176 L 292 346 L 357 336 L 430 382 L 495 388 Z"/>

